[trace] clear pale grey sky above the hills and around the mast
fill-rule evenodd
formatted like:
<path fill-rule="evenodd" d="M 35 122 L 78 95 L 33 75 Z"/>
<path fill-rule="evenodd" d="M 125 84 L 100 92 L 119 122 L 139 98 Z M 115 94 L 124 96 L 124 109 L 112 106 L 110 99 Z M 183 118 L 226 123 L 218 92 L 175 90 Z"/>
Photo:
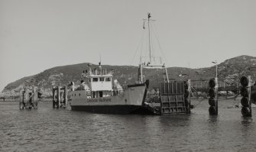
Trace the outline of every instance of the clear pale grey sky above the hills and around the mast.
<path fill-rule="evenodd" d="M 0 0 L 0 91 L 54 66 L 100 58 L 137 66 L 147 12 L 167 67 L 255 57 L 255 8 L 255 0 Z"/>

